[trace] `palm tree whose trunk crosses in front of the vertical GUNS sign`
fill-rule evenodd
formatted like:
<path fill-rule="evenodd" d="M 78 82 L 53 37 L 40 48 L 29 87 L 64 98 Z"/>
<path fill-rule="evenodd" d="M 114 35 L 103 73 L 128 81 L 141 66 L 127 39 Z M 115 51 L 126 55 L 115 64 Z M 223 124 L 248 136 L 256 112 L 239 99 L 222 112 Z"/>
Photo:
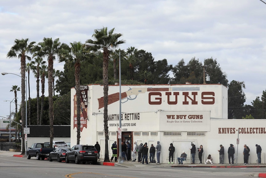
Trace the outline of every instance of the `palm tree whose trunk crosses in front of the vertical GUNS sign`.
<path fill-rule="evenodd" d="M 69 49 L 62 49 L 59 62 L 69 63 L 69 67 L 74 65 L 75 68 L 75 89 L 76 89 L 76 103 L 77 103 L 77 145 L 80 142 L 80 62 L 88 59 L 85 45 L 81 42 L 70 43 Z M 84 116 L 85 117 L 85 116 Z"/>

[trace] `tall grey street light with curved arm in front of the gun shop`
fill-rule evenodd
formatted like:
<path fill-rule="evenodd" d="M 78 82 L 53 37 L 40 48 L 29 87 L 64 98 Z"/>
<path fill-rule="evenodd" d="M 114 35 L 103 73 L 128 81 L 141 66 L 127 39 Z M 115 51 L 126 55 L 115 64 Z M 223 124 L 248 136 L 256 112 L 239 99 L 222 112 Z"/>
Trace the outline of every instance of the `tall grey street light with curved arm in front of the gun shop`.
<path fill-rule="evenodd" d="M 119 55 L 119 129 L 121 130 L 121 51 L 119 50 L 119 54 L 115 52 L 115 50 L 104 46 L 104 45 L 98 45 L 98 44 L 93 44 L 93 43 L 85 43 L 86 46 L 102 46 L 106 47 L 110 50 L 112 50 L 115 54 Z M 119 156 L 118 156 L 118 163 L 123 163 L 123 158 L 122 158 L 122 146 L 121 146 L 121 138 L 119 138 L 119 143 L 118 143 L 118 148 L 119 148 Z"/>

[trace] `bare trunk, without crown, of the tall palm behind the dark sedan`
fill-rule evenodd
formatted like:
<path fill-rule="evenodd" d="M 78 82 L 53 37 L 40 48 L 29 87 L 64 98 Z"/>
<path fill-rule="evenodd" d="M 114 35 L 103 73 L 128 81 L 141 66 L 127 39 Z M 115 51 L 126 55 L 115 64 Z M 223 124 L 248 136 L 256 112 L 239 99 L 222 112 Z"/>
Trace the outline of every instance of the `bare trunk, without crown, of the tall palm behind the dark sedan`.
<path fill-rule="evenodd" d="M 50 147 L 54 138 L 54 116 L 53 116 L 53 57 L 48 59 L 48 98 L 49 98 L 49 120 L 50 120 Z"/>

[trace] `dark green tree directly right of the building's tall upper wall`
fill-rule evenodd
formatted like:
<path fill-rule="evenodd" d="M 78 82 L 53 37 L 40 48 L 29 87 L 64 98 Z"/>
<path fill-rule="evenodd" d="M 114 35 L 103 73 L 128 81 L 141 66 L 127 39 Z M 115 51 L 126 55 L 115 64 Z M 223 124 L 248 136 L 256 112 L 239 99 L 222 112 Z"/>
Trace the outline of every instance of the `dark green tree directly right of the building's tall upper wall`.
<path fill-rule="evenodd" d="M 244 81 L 239 82 L 232 80 L 228 85 L 228 119 L 240 119 L 243 116 L 243 111 L 239 108 L 244 106 L 246 102 Z"/>

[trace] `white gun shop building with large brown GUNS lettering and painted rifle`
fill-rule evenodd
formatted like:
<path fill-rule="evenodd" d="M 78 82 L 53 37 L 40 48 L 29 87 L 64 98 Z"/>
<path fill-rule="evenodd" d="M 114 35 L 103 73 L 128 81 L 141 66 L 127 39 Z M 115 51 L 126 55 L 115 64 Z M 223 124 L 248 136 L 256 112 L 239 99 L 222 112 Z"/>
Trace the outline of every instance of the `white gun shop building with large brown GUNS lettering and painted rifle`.
<path fill-rule="evenodd" d="M 71 89 L 71 146 L 77 142 L 76 91 Z M 118 143 L 119 85 L 108 90 L 109 155 L 111 145 Z M 209 154 L 219 163 L 220 144 L 227 150 L 235 146 L 237 163 L 243 163 L 243 145 L 250 148 L 249 163 L 257 163 L 256 144 L 262 147 L 261 163 L 266 149 L 265 119 L 227 119 L 227 87 L 221 84 L 184 85 L 122 85 L 121 86 L 122 141 L 134 145 L 148 143 L 156 146 L 160 141 L 161 163 L 168 163 L 170 143 L 175 147 L 174 159 L 182 151 L 190 159 L 191 142 L 196 148 L 203 145 L 202 161 Z M 100 158 L 104 158 L 105 137 L 103 126 L 103 86 L 81 86 L 81 139 L 80 144 L 101 145 Z M 237 141 L 237 139 L 239 140 Z M 238 147 L 238 149 L 237 149 Z M 156 158 L 156 156 L 155 156 Z M 236 162 L 236 160 L 235 160 Z M 199 163 L 196 153 L 195 163 Z"/>

